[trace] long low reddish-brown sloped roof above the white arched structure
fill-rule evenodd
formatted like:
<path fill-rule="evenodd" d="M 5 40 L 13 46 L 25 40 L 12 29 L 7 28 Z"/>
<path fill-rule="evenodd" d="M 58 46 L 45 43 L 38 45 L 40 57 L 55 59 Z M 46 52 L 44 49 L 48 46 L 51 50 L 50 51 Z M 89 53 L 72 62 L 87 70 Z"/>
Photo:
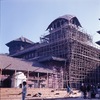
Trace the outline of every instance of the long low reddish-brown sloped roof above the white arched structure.
<path fill-rule="evenodd" d="M 32 66 L 33 62 L 25 61 L 23 59 L 13 58 L 7 55 L 0 54 L 0 68 L 1 69 L 10 69 L 10 70 L 22 70 L 22 71 L 35 71 L 43 73 L 52 73 L 52 70 L 48 68 Z M 8 66 L 8 67 L 7 67 Z"/>

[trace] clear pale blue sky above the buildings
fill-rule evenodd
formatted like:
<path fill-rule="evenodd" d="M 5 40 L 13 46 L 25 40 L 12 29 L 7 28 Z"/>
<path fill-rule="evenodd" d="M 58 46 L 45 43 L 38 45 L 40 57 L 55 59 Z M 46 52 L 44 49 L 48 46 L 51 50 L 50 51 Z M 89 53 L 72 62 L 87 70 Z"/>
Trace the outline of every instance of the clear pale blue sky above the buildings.
<path fill-rule="evenodd" d="M 38 42 L 48 25 L 66 14 L 75 15 L 93 40 L 100 40 L 100 0 L 0 0 L 0 53 L 8 53 L 5 44 L 21 36 Z"/>

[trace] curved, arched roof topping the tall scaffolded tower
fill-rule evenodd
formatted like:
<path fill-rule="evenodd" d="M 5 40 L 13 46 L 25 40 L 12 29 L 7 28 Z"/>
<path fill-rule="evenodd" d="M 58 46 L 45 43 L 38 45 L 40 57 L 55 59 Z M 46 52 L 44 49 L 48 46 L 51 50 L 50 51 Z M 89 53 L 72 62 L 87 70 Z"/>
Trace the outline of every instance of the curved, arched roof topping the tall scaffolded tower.
<path fill-rule="evenodd" d="M 48 30 L 51 27 L 52 23 L 54 23 L 56 20 L 59 20 L 59 19 L 65 19 L 65 20 L 67 20 L 69 22 L 70 22 L 71 19 L 74 19 L 74 20 L 77 21 L 77 25 L 82 27 L 76 16 L 67 14 L 67 15 L 64 15 L 64 16 L 60 16 L 57 19 L 55 19 L 54 21 L 52 21 L 46 30 Z"/>

